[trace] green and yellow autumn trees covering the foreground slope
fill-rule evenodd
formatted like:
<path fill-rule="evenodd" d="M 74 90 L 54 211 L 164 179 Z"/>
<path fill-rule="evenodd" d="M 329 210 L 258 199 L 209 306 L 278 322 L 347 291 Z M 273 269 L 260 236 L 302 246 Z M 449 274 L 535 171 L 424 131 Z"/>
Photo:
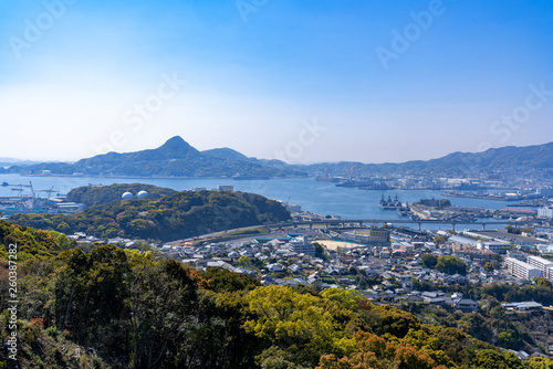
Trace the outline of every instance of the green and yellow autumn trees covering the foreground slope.
<path fill-rule="evenodd" d="M 422 323 L 355 291 L 261 287 L 246 275 L 199 272 L 112 245 L 31 259 L 19 271 L 20 360 L 29 368 L 491 369 L 549 363 L 522 362 L 466 329 Z M 7 288 L 0 284 L 2 316 Z M 7 321 L 0 319 L 3 339 Z M 79 361 L 56 345 L 91 349 Z"/>

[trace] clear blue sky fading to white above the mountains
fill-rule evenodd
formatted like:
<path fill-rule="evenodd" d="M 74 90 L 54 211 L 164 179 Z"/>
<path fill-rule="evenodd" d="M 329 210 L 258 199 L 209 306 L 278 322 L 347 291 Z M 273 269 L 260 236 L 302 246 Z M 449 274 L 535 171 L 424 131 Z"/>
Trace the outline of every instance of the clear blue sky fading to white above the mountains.
<path fill-rule="evenodd" d="M 0 3 L 0 157 L 290 162 L 553 140 L 551 0 Z"/>

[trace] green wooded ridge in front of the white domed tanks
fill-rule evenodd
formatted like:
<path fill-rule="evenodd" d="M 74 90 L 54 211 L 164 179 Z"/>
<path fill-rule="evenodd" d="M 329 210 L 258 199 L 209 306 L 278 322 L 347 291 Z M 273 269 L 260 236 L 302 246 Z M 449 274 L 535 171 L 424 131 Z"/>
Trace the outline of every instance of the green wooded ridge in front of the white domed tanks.
<path fill-rule="evenodd" d="M 123 236 L 163 242 L 289 219 L 290 212 L 275 200 L 247 192 L 219 191 L 119 200 L 71 215 L 11 217 L 17 224 L 67 234 L 85 232 L 101 239 Z"/>

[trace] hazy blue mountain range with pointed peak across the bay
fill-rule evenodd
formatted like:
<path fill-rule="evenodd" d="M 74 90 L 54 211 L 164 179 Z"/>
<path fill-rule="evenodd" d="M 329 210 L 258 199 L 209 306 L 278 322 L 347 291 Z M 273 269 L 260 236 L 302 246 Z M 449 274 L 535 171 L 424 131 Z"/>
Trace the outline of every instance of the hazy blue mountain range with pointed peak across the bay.
<path fill-rule="evenodd" d="M 73 164 L 42 162 L 12 165 L 0 172 L 41 175 L 83 173 L 84 176 L 125 177 L 306 177 L 372 175 L 476 176 L 481 172 L 523 175 L 540 171 L 551 176 L 553 143 L 525 147 L 507 146 L 482 152 L 452 152 L 431 160 L 400 164 L 363 164 L 357 161 L 288 165 L 280 160 L 248 158 L 230 148 L 199 151 L 181 137 L 175 136 L 156 149 L 136 152 L 108 152 Z"/>

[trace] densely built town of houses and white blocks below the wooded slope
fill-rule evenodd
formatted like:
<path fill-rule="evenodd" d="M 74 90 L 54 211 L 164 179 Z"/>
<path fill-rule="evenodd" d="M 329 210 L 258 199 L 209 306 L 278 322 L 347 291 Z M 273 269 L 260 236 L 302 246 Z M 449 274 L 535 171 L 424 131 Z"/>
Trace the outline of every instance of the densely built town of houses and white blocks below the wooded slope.
<path fill-rule="evenodd" d="M 394 224 L 358 226 L 345 221 L 327 226 L 316 224 L 323 218 L 303 213 L 303 218 L 309 215 L 313 224 L 223 242 L 200 236 L 166 244 L 121 238 L 105 243 L 150 250 L 197 268 L 222 267 L 254 276 L 263 285 L 357 289 L 374 301 L 420 301 L 462 309 L 477 309 L 478 296 L 446 294 L 444 287 L 451 291 L 492 282 L 523 286 L 535 283 L 536 277 L 553 281 L 553 261 L 545 259 L 553 254 L 553 228 L 547 223 L 532 229 L 508 225 L 505 230 L 417 231 Z M 101 242 L 85 233 L 70 238 L 79 243 Z M 458 273 L 442 272 L 426 265 L 425 255 L 453 256 L 466 267 Z M 414 286 L 424 283 L 436 286 L 436 291 L 420 292 Z M 519 309 L 539 305 L 521 303 L 526 305 Z"/>

